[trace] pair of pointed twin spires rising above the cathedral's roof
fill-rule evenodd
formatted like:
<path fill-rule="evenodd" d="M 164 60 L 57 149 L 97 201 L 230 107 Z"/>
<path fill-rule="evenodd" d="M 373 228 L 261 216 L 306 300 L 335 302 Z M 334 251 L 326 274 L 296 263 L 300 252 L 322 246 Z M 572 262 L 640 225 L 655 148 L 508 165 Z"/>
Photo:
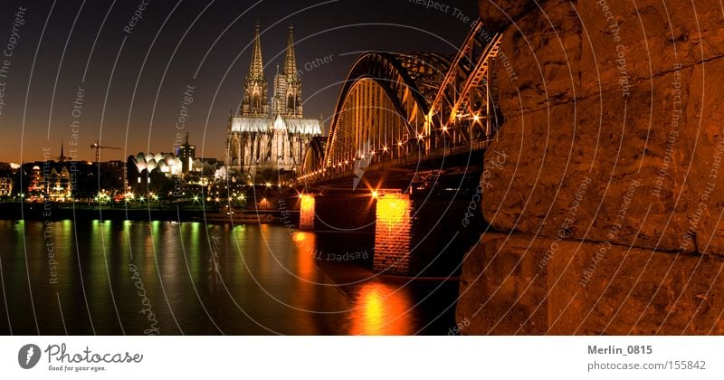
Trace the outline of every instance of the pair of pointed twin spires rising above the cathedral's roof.
<path fill-rule="evenodd" d="M 249 75 L 246 77 L 242 107 L 239 110 L 242 116 L 264 117 L 268 115 L 267 81 L 263 69 L 262 42 L 259 34 L 259 24 L 256 24 L 252 62 Z M 280 73 L 279 65 L 277 65 L 277 73 L 274 76 L 274 94 L 271 107 L 274 114 L 283 117 L 300 118 L 302 116 L 301 81 L 297 71 L 297 58 L 294 52 L 294 35 L 291 25 L 289 27 L 284 70 Z"/>

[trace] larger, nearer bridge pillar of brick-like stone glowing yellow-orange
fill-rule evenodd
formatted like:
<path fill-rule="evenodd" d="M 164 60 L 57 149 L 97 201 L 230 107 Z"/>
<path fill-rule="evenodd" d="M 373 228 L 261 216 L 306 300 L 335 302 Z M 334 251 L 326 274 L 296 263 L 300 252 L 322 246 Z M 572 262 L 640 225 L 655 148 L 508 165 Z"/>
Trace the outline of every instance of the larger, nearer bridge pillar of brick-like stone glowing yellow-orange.
<path fill-rule="evenodd" d="M 374 271 L 410 274 L 411 217 L 409 195 L 388 194 L 377 199 Z"/>

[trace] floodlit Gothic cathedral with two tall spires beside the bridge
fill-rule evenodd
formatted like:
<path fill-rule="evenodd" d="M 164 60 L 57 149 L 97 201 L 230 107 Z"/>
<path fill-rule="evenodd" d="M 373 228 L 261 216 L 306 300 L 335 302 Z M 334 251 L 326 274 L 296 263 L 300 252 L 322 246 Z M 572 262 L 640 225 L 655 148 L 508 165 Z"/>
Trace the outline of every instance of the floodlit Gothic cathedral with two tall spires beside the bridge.
<path fill-rule="evenodd" d="M 320 119 L 302 117 L 301 80 L 290 26 L 284 66 L 274 75 L 274 93 L 267 97 L 259 26 L 254 35 L 252 64 L 241 107 L 229 117 L 224 165 L 229 172 L 254 175 L 262 168 L 298 170 L 307 144 L 321 134 Z"/>

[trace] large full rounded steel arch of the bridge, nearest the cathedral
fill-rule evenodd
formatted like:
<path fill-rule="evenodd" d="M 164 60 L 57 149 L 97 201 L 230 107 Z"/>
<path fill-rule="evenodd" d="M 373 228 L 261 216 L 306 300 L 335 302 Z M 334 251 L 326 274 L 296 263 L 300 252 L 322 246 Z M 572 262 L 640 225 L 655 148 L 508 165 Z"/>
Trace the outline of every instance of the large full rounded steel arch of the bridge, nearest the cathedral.
<path fill-rule="evenodd" d="M 434 53 L 368 52 L 340 91 L 324 169 L 354 167 L 426 149 L 426 116 L 450 61 Z"/>

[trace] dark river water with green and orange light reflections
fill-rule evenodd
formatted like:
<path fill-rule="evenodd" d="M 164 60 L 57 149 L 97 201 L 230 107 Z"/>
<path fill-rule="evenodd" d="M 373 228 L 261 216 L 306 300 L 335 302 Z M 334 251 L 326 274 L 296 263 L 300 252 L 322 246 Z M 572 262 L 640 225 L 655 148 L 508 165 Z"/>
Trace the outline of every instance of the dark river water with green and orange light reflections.
<path fill-rule="evenodd" d="M 376 276 L 370 236 L 0 221 L 0 334 L 446 334 L 455 280 Z M 354 247 L 354 249 L 350 249 Z"/>

